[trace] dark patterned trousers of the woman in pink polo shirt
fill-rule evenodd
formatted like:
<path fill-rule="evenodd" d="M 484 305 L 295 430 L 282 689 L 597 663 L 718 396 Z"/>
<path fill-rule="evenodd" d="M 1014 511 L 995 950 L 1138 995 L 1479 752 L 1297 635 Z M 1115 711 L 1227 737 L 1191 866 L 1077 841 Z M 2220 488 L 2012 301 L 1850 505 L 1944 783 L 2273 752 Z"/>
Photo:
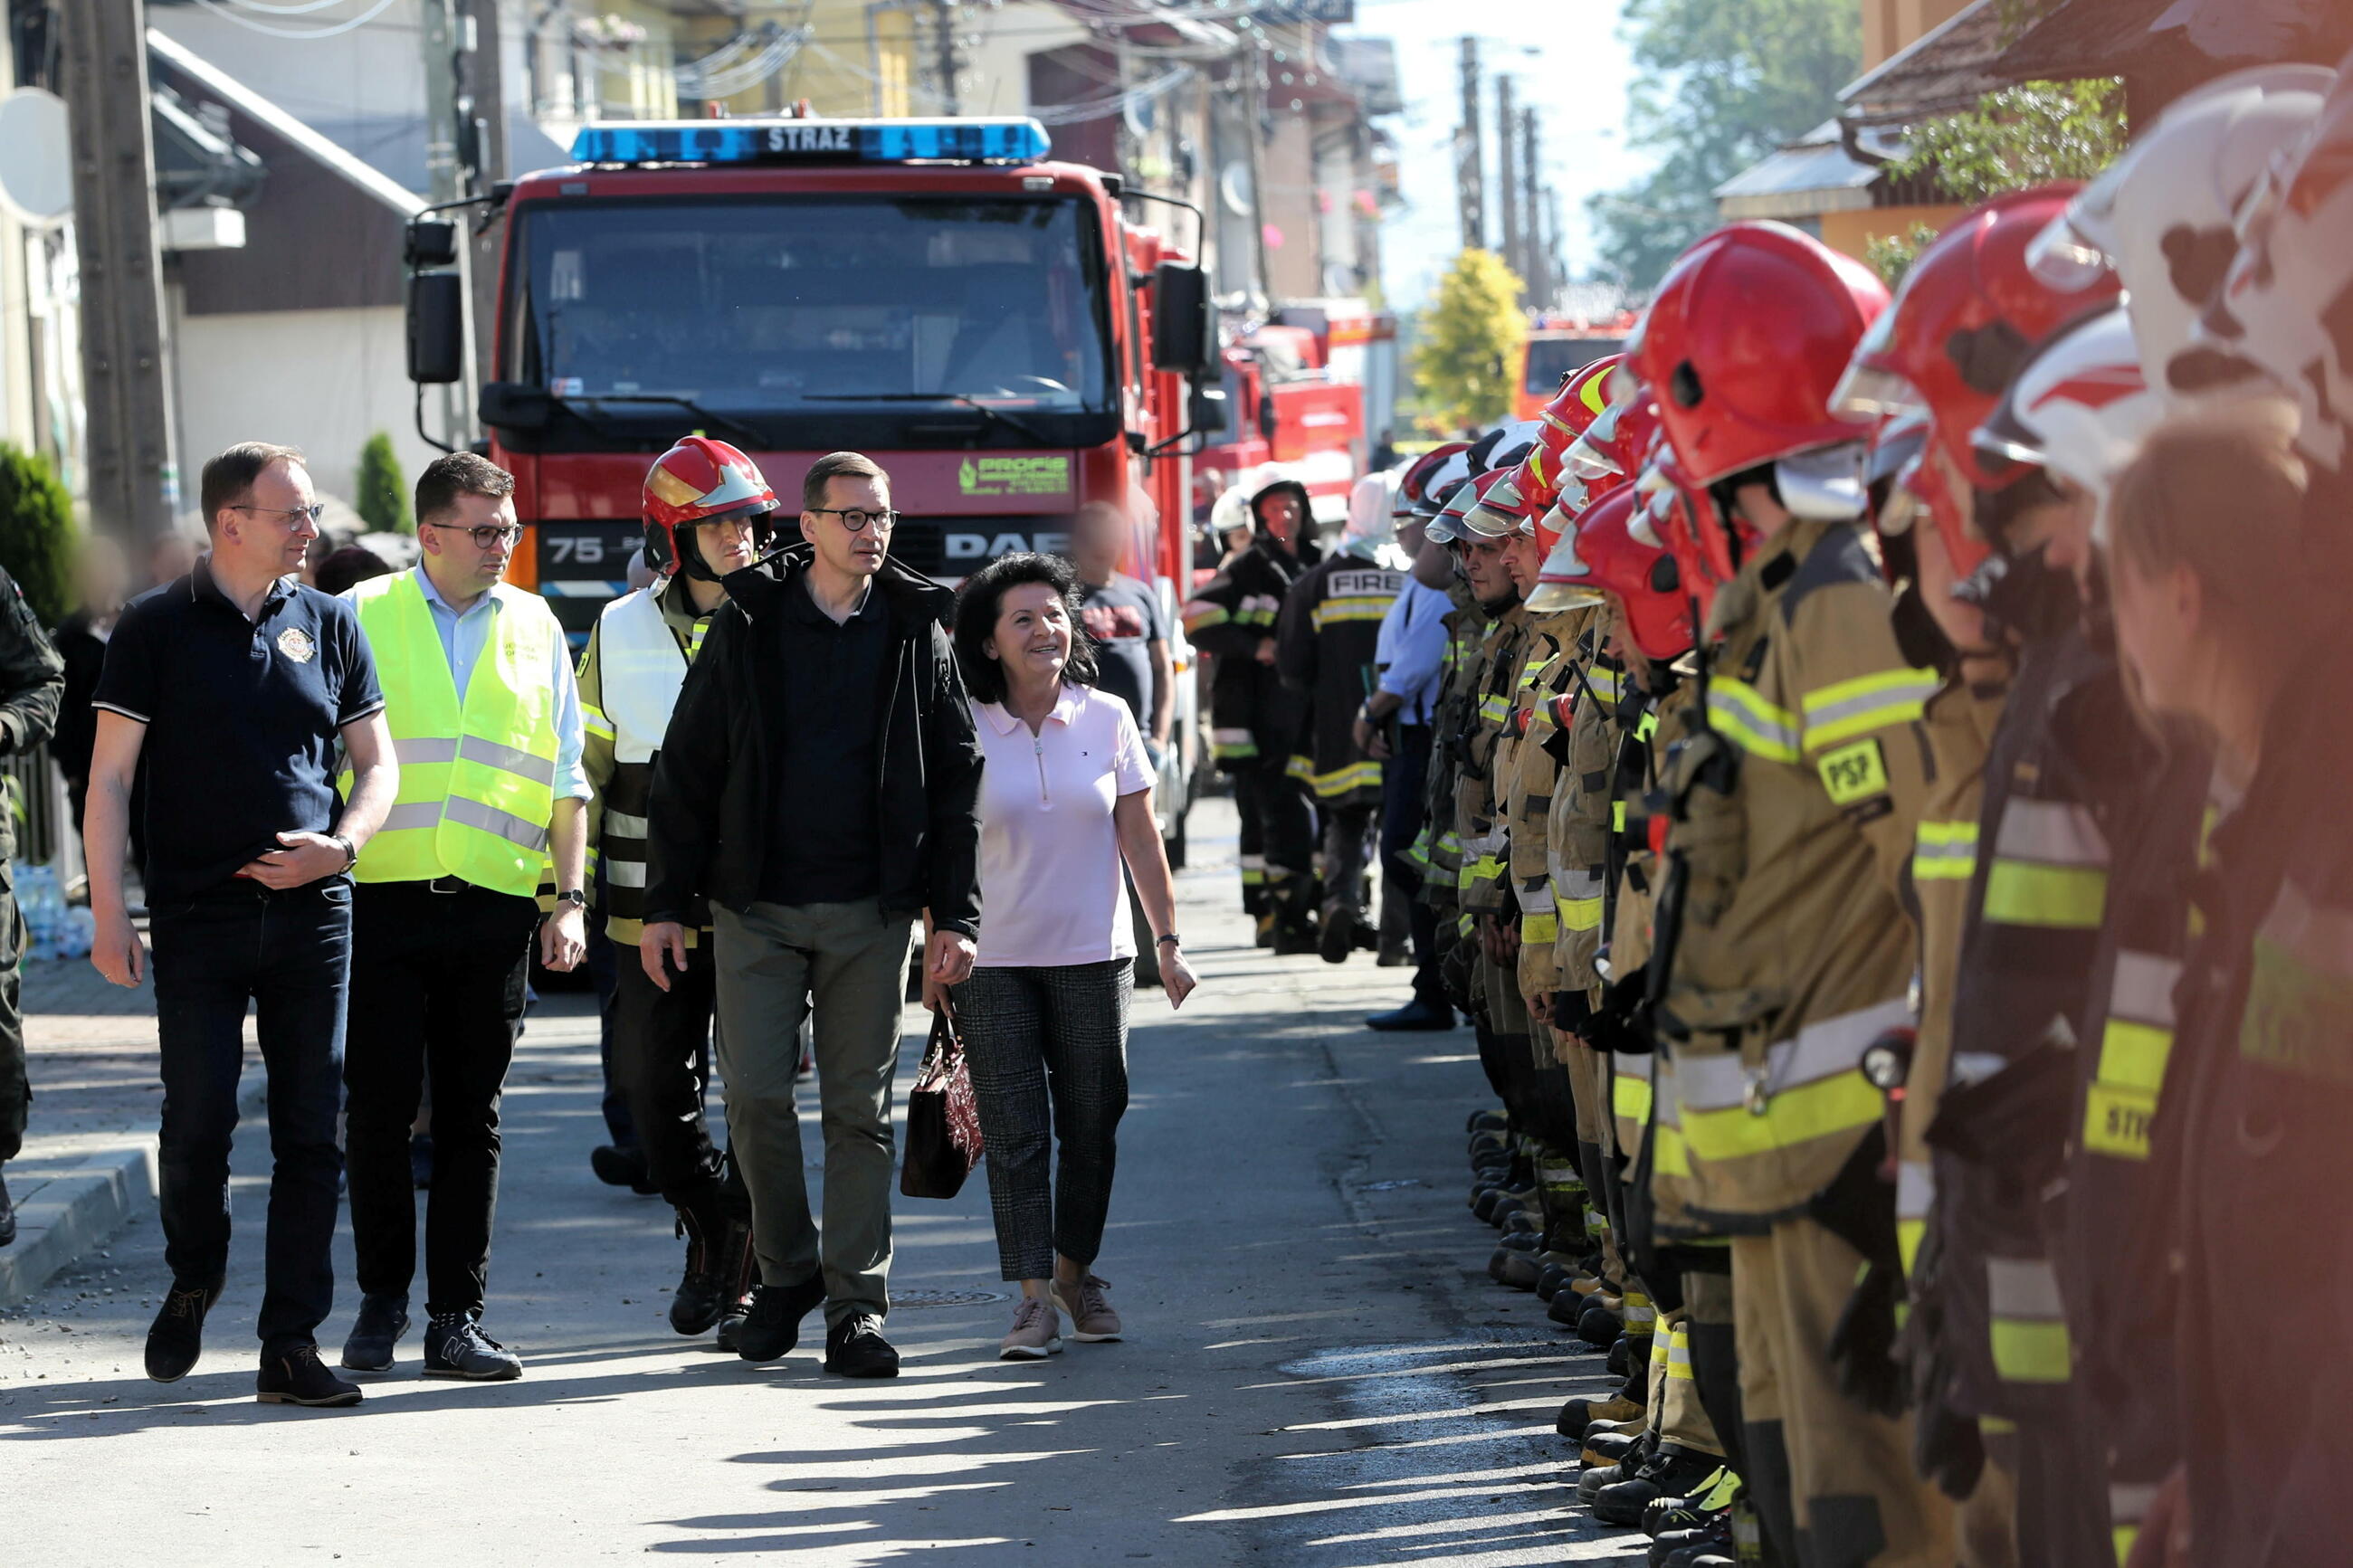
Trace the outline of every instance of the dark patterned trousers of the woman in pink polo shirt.
<path fill-rule="evenodd" d="M 1127 1001 L 1127 959 L 974 969 L 955 987 L 1005 1279 L 1049 1279 L 1054 1253 L 1085 1267 L 1104 1251 Z"/>

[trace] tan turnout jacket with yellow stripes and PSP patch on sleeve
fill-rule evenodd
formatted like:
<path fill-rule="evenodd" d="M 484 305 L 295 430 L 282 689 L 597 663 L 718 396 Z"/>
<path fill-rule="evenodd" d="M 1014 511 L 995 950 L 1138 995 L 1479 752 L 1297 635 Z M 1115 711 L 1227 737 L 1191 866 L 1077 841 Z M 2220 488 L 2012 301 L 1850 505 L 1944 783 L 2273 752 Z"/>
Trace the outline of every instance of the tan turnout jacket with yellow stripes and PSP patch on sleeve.
<path fill-rule="evenodd" d="M 1899 804 L 1925 780 L 1937 689 L 1887 607 L 1861 531 L 1805 520 L 1715 599 L 1671 783 L 1680 929 L 1659 1018 L 1701 1222 L 1805 1213 L 1882 1117 L 1861 1058 L 1911 1020 Z"/>

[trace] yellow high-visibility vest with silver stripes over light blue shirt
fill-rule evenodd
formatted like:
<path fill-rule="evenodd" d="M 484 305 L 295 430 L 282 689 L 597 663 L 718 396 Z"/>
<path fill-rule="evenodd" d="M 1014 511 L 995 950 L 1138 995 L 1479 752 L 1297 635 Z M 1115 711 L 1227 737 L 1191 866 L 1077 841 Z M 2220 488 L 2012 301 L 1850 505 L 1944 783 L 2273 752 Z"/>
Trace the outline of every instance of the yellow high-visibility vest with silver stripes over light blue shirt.
<path fill-rule="evenodd" d="M 539 891 L 555 809 L 548 670 L 565 632 L 536 592 L 506 583 L 489 592 L 499 599 L 494 630 L 464 703 L 414 571 L 344 595 L 374 649 L 400 759 L 400 795 L 360 851 L 358 882 L 459 877 L 520 898 Z"/>

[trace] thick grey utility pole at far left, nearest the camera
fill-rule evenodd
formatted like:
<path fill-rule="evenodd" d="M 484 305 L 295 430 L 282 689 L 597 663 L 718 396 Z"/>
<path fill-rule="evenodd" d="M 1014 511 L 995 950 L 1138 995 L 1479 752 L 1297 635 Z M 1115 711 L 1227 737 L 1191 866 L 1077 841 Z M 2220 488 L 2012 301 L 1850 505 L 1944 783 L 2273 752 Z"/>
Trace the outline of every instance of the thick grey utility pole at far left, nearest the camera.
<path fill-rule="evenodd" d="M 59 14 L 82 268 L 89 515 L 101 529 L 144 541 L 169 529 L 179 505 L 165 397 L 146 5 L 75 0 Z"/>

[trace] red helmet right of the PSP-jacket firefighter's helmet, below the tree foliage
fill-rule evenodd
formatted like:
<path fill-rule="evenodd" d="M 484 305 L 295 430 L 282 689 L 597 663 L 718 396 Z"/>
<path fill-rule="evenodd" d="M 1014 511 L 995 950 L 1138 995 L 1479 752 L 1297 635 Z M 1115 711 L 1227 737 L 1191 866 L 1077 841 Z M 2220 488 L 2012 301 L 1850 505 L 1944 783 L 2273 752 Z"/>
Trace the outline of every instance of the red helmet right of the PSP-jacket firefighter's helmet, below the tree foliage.
<path fill-rule="evenodd" d="M 2026 252 L 2068 209 L 2073 183 L 2012 190 L 1946 228 L 1871 324 L 1831 407 L 1878 418 L 1927 407 L 1937 447 L 1977 489 L 2002 489 L 2026 465 L 1991 461 L 1969 437 L 2000 404 L 2035 348 L 2061 327 L 2106 310 L 2120 282 L 2104 273 L 2082 292 L 2042 282 Z"/>

